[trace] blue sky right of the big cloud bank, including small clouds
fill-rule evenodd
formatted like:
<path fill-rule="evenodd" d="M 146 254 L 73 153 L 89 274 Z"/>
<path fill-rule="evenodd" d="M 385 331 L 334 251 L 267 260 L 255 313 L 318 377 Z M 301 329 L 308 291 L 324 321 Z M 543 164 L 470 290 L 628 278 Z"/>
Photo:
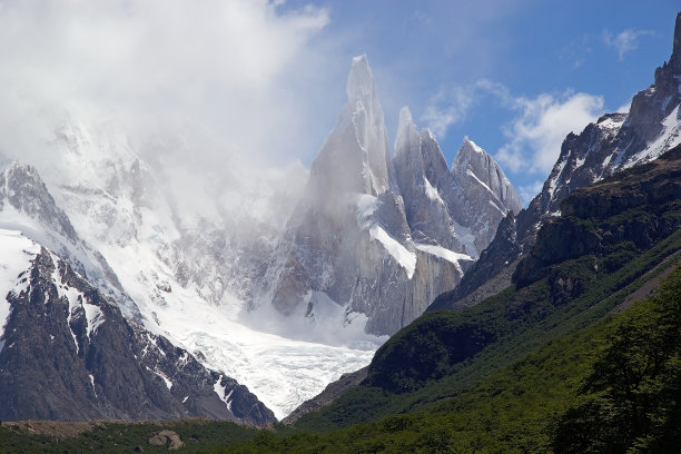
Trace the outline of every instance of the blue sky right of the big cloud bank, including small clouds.
<path fill-rule="evenodd" d="M 471 137 L 500 160 L 525 204 L 570 130 L 579 134 L 652 83 L 681 9 L 661 0 L 314 4 L 328 11 L 328 23 L 313 43 L 340 61 L 368 56 L 391 140 L 407 105 L 417 126 L 434 129 L 450 164 Z M 338 70 L 328 96 L 336 110 L 346 76 Z"/>

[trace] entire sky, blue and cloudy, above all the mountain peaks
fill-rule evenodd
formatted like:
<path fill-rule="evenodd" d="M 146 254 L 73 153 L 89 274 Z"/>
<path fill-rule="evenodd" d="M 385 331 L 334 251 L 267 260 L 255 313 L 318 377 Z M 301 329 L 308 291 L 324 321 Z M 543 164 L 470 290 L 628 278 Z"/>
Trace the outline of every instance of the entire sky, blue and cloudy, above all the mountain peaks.
<path fill-rule="evenodd" d="M 178 136 L 190 146 L 175 157 L 206 172 L 309 167 L 346 101 L 352 58 L 367 55 L 391 144 L 408 106 L 450 165 L 468 136 L 526 205 L 568 132 L 625 110 L 652 83 L 680 9 L 671 0 L 0 0 L 0 152 L 40 159 L 36 118 L 63 110 L 114 118 L 140 144 Z"/>

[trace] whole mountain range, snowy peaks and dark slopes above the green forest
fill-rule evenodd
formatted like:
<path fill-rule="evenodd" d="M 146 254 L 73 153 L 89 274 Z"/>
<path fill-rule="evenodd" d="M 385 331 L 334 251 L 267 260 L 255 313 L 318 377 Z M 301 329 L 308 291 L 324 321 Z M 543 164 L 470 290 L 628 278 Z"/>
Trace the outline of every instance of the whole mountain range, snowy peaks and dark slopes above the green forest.
<path fill-rule="evenodd" d="M 146 157 L 171 140 L 66 115 L 50 162 L 0 174 L 0 418 L 266 425 L 388 336 L 306 404 L 319 413 L 297 412 L 299 427 L 456 395 L 621 303 L 594 303 L 594 279 L 623 292 L 675 253 L 680 80 L 681 14 L 653 85 L 570 134 L 526 209 L 471 139 L 448 168 L 406 107 L 391 154 L 366 56 L 309 172 L 287 169 L 298 185 L 284 197 L 257 179 L 248 203 L 265 216 L 169 191 L 174 169 Z"/>

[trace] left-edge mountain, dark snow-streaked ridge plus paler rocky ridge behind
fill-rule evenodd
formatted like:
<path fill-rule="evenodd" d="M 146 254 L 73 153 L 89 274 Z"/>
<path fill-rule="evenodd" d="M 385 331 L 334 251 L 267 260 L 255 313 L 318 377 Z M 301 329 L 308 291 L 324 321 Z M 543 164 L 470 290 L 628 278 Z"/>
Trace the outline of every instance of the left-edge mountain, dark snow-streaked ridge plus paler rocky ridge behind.
<path fill-rule="evenodd" d="M 120 284 L 77 236 L 34 168 L 11 164 L 1 179 L 3 226 L 27 231 L 0 230 L 2 420 L 276 421 L 245 386 L 127 318 L 121 303 L 129 307 L 130 298 L 117 300 L 120 290 L 99 289 Z M 27 235 L 61 247 L 68 258 Z M 92 257 L 98 261 L 83 264 Z M 85 273 L 101 269 L 93 286 Z"/>

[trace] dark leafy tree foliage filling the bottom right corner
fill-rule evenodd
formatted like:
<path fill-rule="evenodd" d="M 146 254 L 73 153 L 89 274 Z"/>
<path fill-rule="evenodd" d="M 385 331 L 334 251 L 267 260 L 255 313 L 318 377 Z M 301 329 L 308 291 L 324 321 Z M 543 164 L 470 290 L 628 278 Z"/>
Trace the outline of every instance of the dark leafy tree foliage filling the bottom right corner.
<path fill-rule="evenodd" d="M 556 453 L 670 453 L 681 441 L 681 270 L 630 309 L 555 431 Z"/>

